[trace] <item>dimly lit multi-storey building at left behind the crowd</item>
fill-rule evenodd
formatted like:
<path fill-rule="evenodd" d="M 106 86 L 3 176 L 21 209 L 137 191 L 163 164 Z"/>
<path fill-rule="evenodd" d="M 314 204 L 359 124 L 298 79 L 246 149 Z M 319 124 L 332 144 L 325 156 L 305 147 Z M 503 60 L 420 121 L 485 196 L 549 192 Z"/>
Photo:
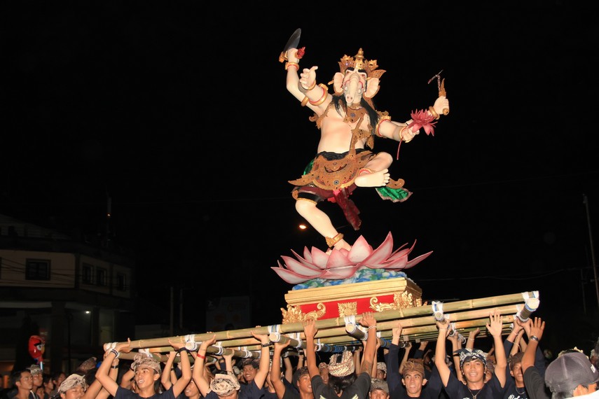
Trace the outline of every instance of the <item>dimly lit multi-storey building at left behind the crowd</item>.
<path fill-rule="evenodd" d="M 73 371 L 102 344 L 135 333 L 132 256 L 0 215 L 0 372 L 34 363 L 31 335 L 45 339 L 44 371 Z"/>

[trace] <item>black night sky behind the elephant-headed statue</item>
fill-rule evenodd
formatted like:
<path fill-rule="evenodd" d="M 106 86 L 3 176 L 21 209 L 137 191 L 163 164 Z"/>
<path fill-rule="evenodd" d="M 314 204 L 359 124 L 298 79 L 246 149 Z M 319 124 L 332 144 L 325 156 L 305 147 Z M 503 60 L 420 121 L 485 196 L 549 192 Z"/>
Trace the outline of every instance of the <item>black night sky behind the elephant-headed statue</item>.
<path fill-rule="evenodd" d="M 595 6 L 2 7 L 0 211 L 135 251 L 140 322 L 167 321 L 174 286 L 197 304 L 192 320 L 206 297 L 249 295 L 256 324 L 279 323 L 291 286 L 270 267 L 326 248 L 298 230 L 287 183 L 319 139 L 277 60 L 299 27 L 301 66 L 318 65 L 319 83 L 359 48 L 377 59 L 387 72 L 375 104 L 394 120 L 431 105 L 427 81 L 446 78 L 450 114 L 390 168 L 413 196 L 392 204 L 357 190 L 357 232 L 323 204 L 346 238 L 376 247 L 392 232 L 396 246 L 417 241 L 413 256 L 434 251 L 406 271 L 423 300 L 539 290 L 540 316 L 579 314 L 582 339 L 597 337 Z M 375 150 L 396 155 L 397 143 Z"/>

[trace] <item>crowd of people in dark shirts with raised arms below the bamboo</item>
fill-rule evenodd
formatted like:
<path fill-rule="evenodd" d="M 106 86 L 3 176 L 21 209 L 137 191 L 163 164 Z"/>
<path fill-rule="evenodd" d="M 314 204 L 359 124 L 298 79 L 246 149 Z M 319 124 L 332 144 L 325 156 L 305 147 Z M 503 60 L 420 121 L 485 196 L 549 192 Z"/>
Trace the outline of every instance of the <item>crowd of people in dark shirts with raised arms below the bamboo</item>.
<path fill-rule="evenodd" d="M 588 355 L 574 347 L 549 361 L 541 348 L 541 318 L 515 318 L 505 335 L 501 314 L 493 311 L 486 325 L 492 341 L 487 352 L 476 348 L 476 341 L 483 341 L 480 328 L 466 339 L 445 320 L 436 322 L 436 342 L 414 347 L 401 342 L 401 321 L 385 345 L 373 313 L 362 314 L 359 323 L 365 332 L 362 347 L 329 353 L 328 361 L 318 360 L 312 318 L 303 321 L 305 349 L 252 332 L 261 350 L 249 358 L 209 354 L 216 335 L 193 350 L 170 342 L 173 350 L 164 363 L 142 352 L 121 360 L 121 353 L 131 351 L 130 341 L 121 342 L 101 361 L 92 357 L 68 377 L 44 374 L 39 365 L 15 370 L 3 399 L 599 398 L 599 339 Z"/>

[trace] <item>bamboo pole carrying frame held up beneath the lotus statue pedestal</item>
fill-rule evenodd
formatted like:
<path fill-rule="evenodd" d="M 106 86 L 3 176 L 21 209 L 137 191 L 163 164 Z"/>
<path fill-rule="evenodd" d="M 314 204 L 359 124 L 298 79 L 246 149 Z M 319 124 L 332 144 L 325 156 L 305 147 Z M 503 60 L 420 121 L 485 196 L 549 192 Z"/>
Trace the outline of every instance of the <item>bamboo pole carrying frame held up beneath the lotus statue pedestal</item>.
<path fill-rule="evenodd" d="M 514 322 L 515 317 L 526 319 L 532 311 L 537 309 L 538 300 L 537 291 L 528 291 L 524 293 L 514 293 L 508 295 L 498 295 L 493 297 L 484 297 L 473 300 L 461 300 L 456 302 L 446 302 L 443 304 L 443 313 L 446 320 L 451 323 L 455 332 L 466 336 L 469 331 L 481 328 L 479 337 L 486 336 L 485 325 L 489 321 L 489 315 L 497 309 L 502 314 L 504 332 L 511 330 L 510 324 Z M 530 303 L 534 307 L 530 307 Z M 434 309 L 426 304 L 418 307 L 408 307 L 405 309 L 390 309 L 374 312 L 377 321 L 377 336 L 381 347 L 387 347 L 392 329 L 401 323 L 402 342 L 420 342 L 436 339 L 438 332 Z M 355 324 L 359 323 L 359 315 L 355 316 Z M 327 318 L 317 320 L 318 328 L 315 337 L 317 351 L 340 352 L 352 349 L 356 346 L 362 346 L 361 339 L 364 339 L 365 330 L 357 328 L 352 334 L 348 332 L 351 325 L 348 325 L 347 318 Z M 124 359 L 133 359 L 137 353 L 135 349 L 142 349 L 149 353 L 153 358 L 160 362 L 166 362 L 169 351 L 173 348 L 171 342 L 185 343 L 188 349 L 198 347 L 199 344 L 216 336 L 216 344 L 210 346 L 208 354 L 230 354 L 239 358 L 259 358 L 260 342 L 252 336 L 252 331 L 256 334 L 268 334 L 271 342 L 280 340 L 291 340 L 289 349 L 304 349 L 305 336 L 303 335 L 303 323 L 287 323 L 279 325 L 270 325 L 266 327 L 243 328 L 240 330 L 227 330 L 220 332 L 205 332 L 202 334 L 179 335 L 174 337 L 163 337 L 153 339 L 137 339 L 131 341 L 130 353 L 121 353 L 120 357 Z M 351 331 L 351 330 L 350 330 Z M 109 350 L 116 346 L 117 342 L 104 344 L 104 349 Z M 177 359 L 178 360 L 178 359 Z M 207 359 L 207 363 L 209 360 Z M 193 356 L 191 357 L 193 362 Z"/>

